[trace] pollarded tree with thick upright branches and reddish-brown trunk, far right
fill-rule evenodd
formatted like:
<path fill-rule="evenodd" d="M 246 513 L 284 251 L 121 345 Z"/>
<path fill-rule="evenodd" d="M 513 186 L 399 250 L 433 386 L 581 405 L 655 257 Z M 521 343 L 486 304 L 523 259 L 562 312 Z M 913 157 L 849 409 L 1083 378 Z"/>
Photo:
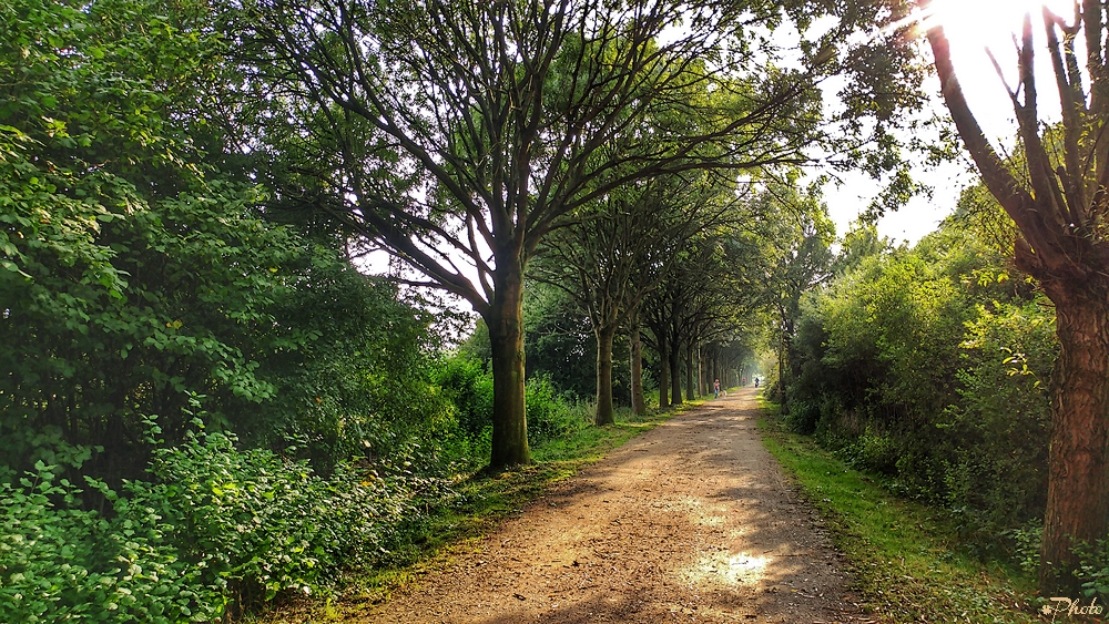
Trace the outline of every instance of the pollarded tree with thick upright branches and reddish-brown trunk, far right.
<path fill-rule="evenodd" d="M 927 9 L 929 2 L 919 6 Z M 944 101 L 990 194 L 1019 231 L 1014 255 L 1056 307 L 1060 354 L 1051 375 L 1051 436 L 1040 589 L 1078 590 L 1075 546 L 1109 532 L 1109 49 L 1107 8 L 1075 2 L 1068 21 L 1044 9 L 1047 50 L 1062 104 L 1057 132 L 1040 122 L 1032 19 L 1019 38 L 1019 82 L 1007 85 L 1025 162 L 1015 172 L 971 112 L 942 25 L 927 32 Z M 1081 39 L 1085 59 L 1076 51 Z M 1082 68 L 1085 65 L 1085 68 Z M 1083 71 L 1085 70 L 1085 71 Z M 1085 83 L 1086 76 L 1091 83 Z"/>

